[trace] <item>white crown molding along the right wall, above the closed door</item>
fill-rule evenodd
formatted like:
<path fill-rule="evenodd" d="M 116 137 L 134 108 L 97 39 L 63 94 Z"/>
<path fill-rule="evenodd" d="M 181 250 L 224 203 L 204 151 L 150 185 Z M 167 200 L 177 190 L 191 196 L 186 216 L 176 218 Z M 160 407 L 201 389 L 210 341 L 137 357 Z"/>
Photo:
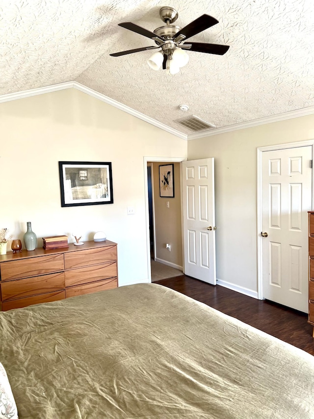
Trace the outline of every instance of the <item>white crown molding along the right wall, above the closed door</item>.
<path fill-rule="evenodd" d="M 202 131 L 202 133 L 189 134 L 187 136 L 187 140 L 197 140 L 204 137 L 210 137 L 212 135 L 228 133 L 230 131 L 243 130 L 245 128 L 256 127 L 258 125 L 270 124 L 271 122 L 284 121 L 285 119 L 292 119 L 297 118 L 299 116 L 312 115 L 313 113 L 314 106 L 309 106 L 308 108 L 296 109 L 295 111 L 279 113 L 278 115 L 265 116 L 264 118 L 253 119 L 252 121 L 240 122 L 238 124 L 229 125 L 228 127 L 215 128 L 207 131 Z"/>

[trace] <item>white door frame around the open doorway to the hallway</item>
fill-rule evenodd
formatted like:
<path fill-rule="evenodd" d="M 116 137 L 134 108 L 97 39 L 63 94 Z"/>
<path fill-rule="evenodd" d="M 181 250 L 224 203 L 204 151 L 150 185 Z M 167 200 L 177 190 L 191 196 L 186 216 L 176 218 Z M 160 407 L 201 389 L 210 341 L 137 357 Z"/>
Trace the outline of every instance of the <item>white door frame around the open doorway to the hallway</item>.
<path fill-rule="evenodd" d="M 147 278 L 149 282 L 152 282 L 151 272 L 151 249 L 150 249 L 150 237 L 149 237 L 149 203 L 148 203 L 148 176 L 147 176 L 147 164 L 149 162 L 164 162 L 164 163 L 181 163 L 187 160 L 187 157 L 148 157 L 144 156 L 144 187 L 145 187 L 145 214 L 146 214 L 146 253 L 147 253 Z M 182 208 L 182 170 L 180 168 L 180 196 L 181 196 L 181 208 Z M 154 199 L 153 199 L 154 205 Z M 155 211 L 155 210 L 154 210 Z M 182 210 L 181 210 L 181 225 L 182 225 Z M 181 227 L 182 228 L 182 227 Z M 155 218 L 154 218 L 154 240 L 155 238 Z M 155 256 L 156 256 L 156 243 L 155 243 Z M 184 261 L 183 261 L 183 272 L 184 272 Z"/>

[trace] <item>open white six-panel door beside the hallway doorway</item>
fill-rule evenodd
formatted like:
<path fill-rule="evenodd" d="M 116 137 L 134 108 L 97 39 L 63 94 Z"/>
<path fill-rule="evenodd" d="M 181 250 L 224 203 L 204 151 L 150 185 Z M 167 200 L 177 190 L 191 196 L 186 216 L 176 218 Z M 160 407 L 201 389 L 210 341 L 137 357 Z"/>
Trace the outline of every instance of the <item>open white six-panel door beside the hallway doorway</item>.
<path fill-rule="evenodd" d="M 214 159 L 182 166 L 184 273 L 215 285 Z"/>

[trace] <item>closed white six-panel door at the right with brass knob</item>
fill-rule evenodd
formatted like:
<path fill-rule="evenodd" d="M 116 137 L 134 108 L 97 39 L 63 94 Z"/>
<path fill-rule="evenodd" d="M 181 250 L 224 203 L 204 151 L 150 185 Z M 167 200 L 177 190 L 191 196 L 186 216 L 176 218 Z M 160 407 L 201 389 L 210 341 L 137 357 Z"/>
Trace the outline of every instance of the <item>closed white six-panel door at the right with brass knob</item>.
<path fill-rule="evenodd" d="M 304 312 L 311 159 L 312 146 L 262 153 L 262 296 Z"/>

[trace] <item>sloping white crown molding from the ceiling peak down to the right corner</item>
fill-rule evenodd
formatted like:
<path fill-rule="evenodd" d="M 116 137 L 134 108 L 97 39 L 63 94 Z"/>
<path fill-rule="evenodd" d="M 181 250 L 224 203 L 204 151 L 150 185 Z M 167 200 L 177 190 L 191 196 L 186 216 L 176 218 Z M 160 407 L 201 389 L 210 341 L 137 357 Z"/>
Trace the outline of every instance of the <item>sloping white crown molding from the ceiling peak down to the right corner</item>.
<path fill-rule="evenodd" d="M 76 89 L 89 94 L 90 96 L 94 96 L 96 99 L 102 100 L 103 102 L 114 106 L 115 108 L 121 109 L 121 111 L 130 113 L 133 116 L 136 116 L 136 118 L 142 119 L 145 122 L 148 122 L 151 125 L 154 125 L 157 128 L 161 128 L 164 131 L 167 131 L 170 134 L 173 134 L 177 137 L 182 138 L 183 140 L 187 140 L 187 134 L 183 134 L 180 131 L 177 131 L 171 127 L 168 127 L 167 125 L 157 121 L 156 119 L 153 119 L 147 115 L 144 115 L 141 112 L 137 112 L 132 108 L 129 108 L 126 105 L 123 105 L 122 103 L 109 98 L 108 96 L 105 96 L 102 93 L 97 92 L 96 90 L 90 89 L 89 87 L 84 86 L 83 84 L 80 84 L 78 82 L 73 82 L 73 87 L 75 87 Z"/>

